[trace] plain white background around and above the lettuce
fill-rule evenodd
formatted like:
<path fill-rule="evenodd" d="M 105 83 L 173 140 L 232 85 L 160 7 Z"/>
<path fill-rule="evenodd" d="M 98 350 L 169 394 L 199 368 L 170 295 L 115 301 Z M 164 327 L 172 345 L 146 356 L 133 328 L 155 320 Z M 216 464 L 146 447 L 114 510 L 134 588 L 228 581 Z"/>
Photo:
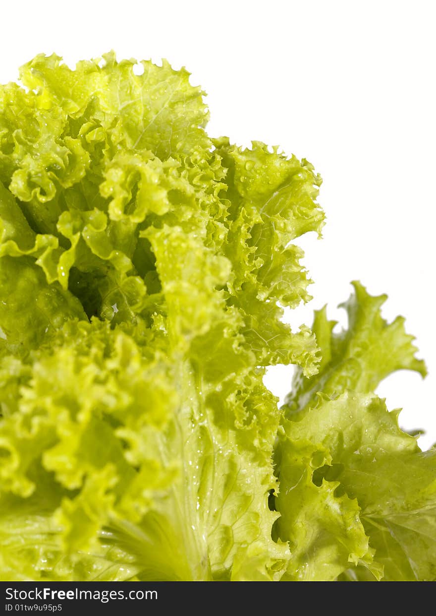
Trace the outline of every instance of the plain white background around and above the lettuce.
<path fill-rule="evenodd" d="M 238 144 L 279 144 L 324 179 L 324 239 L 303 238 L 314 301 L 287 315 L 311 323 L 359 278 L 388 293 L 417 338 L 429 376 L 400 372 L 379 394 L 403 407 L 406 428 L 436 440 L 435 3 L 358 1 L 4 2 L 0 81 L 35 54 L 73 65 L 113 48 L 119 59 L 159 60 L 192 72 L 208 92 L 209 131 Z M 313 235 L 313 234 L 312 234 Z M 283 397 L 290 367 L 269 371 Z"/>

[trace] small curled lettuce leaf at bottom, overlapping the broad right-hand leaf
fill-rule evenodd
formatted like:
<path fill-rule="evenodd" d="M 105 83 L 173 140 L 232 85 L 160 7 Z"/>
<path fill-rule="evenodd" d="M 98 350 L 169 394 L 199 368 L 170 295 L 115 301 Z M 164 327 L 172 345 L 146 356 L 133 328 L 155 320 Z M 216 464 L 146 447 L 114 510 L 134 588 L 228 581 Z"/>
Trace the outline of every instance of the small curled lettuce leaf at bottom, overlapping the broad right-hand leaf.
<path fill-rule="evenodd" d="M 373 551 L 365 535 L 355 499 L 335 493 L 339 482 L 315 482 L 319 469 L 331 462 L 327 448 L 304 439 L 280 435 L 280 492 L 277 509 L 282 513 L 275 532 L 289 541 L 291 559 L 283 580 L 332 581 L 349 563 L 370 568 Z"/>

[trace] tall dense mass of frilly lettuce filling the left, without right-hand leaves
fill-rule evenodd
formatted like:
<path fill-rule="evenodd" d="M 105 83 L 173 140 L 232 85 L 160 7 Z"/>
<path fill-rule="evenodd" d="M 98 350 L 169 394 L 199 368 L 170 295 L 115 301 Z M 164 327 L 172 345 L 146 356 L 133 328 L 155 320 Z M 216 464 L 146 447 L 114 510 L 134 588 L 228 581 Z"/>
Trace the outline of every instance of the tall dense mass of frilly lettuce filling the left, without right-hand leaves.
<path fill-rule="evenodd" d="M 39 55 L 0 89 L 1 577 L 279 580 L 263 375 L 317 370 L 281 317 L 320 178 L 213 142 L 189 73 L 135 63 Z"/>

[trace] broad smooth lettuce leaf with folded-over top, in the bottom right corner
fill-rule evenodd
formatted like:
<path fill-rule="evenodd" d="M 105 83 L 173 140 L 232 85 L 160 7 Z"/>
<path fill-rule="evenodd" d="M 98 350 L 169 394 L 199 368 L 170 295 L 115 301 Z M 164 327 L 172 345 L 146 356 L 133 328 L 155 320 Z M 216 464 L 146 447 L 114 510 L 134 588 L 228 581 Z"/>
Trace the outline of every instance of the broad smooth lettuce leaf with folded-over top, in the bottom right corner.
<path fill-rule="evenodd" d="M 308 439 L 329 452 L 314 480 L 357 499 L 384 579 L 434 580 L 436 455 L 422 453 L 397 418 L 378 397 L 346 392 L 320 399 L 285 430 L 296 442 Z"/>

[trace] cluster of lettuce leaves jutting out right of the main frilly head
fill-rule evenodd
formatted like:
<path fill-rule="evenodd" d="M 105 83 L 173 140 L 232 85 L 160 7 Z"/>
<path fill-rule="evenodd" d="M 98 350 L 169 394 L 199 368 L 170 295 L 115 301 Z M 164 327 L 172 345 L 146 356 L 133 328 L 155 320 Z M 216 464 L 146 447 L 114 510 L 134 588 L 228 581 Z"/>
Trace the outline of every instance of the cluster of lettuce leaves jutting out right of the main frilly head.
<path fill-rule="evenodd" d="M 381 317 L 386 296 L 372 297 L 359 283 L 354 289 L 344 304 L 348 330 L 336 334 L 325 308 L 315 312 L 319 374 L 304 379 L 297 368 L 283 408 L 287 419 L 275 450 L 280 484 L 275 504 L 282 516 L 275 525 L 295 550 L 287 577 L 433 580 L 434 451 L 421 452 L 416 437 L 398 427 L 399 411 L 387 411 L 384 400 L 372 393 L 394 370 L 408 368 L 424 376 L 426 369 L 414 356 L 404 319 L 388 324 Z M 310 488 L 303 491 L 304 482 Z M 333 505 L 325 504 L 325 494 Z M 327 513 L 330 507 L 343 522 L 344 503 L 354 506 L 346 525 L 348 533 L 354 532 L 352 541 L 332 526 Z"/>

